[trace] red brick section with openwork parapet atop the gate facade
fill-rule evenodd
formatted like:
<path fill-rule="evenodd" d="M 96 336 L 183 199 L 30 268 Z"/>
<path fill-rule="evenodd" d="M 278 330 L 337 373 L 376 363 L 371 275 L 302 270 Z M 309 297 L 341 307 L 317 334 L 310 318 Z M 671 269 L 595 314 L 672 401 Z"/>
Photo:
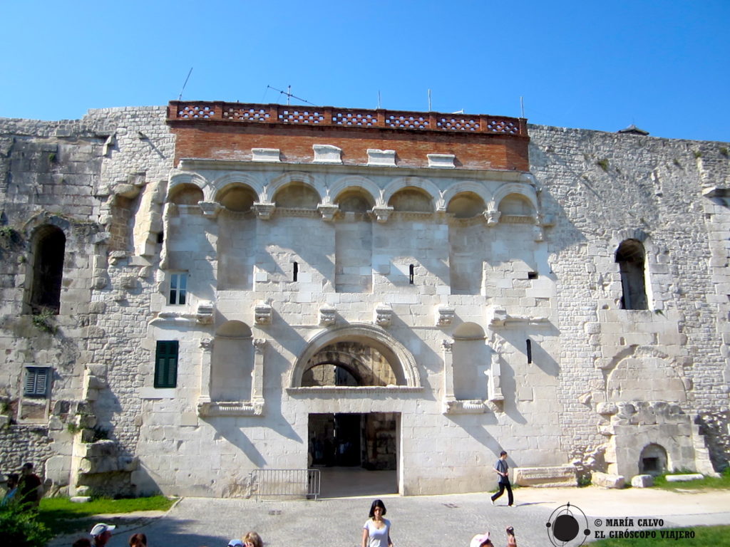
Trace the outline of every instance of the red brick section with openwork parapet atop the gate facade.
<path fill-rule="evenodd" d="M 200 103 L 198 103 L 200 104 Z M 214 103 L 208 103 L 213 105 Z M 180 103 L 173 101 L 168 107 L 168 120 L 172 132 L 177 136 L 175 165 L 180 158 L 204 158 L 215 160 L 250 160 L 252 148 L 278 148 L 281 159 L 287 163 L 311 163 L 314 159 L 312 144 L 331 144 L 342 149 L 342 163 L 365 165 L 367 150 L 395 150 L 398 166 L 423 167 L 428 165 L 426 154 L 453 154 L 456 167 L 466 169 L 495 169 L 507 171 L 529 171 L 526 120 L 504 118 L 518 128 L 518 134 L 488 132 L 486 120 L 495 117 L 458 116 L 480 120 L 480 130 L 453 131 L 438 129 L 385 128 L 332 125 L 331 109 L 288 107 L 290 109 L 327 110 L 320 124 L 304 125 L 281 123 L 276 117 L 276 107 L 281 105 L 241 105 L 237 103 L 215 103 L 266 109 L 271 115 L 264 122 L 253 120 L 225 120 L 220 117 L 220 107 L 211 107 L 215 112 L 210 117 L 180 119 Z M 341 112 L 339 109 L 338 112 Z M 358 113 L 372 113 L 377 123 L 383 123 L 382 110 L 358 110 Z M 434 113 L 399 112 L 431 120 L 439 116 Z"/>

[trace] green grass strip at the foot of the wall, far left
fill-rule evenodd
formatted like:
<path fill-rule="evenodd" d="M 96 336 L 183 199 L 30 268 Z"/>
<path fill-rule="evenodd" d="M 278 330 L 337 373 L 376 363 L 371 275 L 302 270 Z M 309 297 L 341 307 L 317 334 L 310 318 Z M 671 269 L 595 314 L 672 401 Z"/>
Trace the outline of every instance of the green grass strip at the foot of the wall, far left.
<path fill-rule="evenodd" d="M 167 511 L 174 500 L 164 496 L 111 500 L 99 497 L 88 503 L 72 503 L 67 497 L 45 497 L 39 508 L 39 521 L 56 534 L 69 534 L 91 529 L 99 521 L 97 515 L 131 513 L 132 511 Z M 87 530 L 88 531 L 88 530 Z"/>

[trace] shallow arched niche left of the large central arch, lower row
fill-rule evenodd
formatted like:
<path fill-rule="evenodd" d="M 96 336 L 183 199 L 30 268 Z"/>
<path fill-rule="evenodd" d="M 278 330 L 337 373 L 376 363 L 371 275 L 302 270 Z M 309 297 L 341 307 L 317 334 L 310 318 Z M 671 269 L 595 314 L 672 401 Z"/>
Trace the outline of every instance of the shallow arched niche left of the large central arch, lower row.
<path fill-rule="evenodd" d="M 251 400 L 253 344 L 244 322 L 226 321 L 215 331 L 210 398 L 213 401 Z"/>

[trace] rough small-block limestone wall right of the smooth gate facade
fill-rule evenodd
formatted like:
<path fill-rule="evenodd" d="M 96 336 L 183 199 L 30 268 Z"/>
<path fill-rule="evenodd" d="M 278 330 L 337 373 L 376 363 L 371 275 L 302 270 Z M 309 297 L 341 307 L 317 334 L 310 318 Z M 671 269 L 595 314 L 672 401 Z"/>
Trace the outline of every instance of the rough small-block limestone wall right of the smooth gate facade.
<path fill-rule="evenodd" d="M 718 331 L 726 298 L 713 296 L 716 276 L 725 274 L 726 212 L 703 195 L 710 185 L 726 185 L 726 148 L 542 126 L 531 126 L 530 134 L 543 214 L 556 219 L 545 235 L 560 280 L 564 446 L 575 454 L 601 446 L 594 406 L 610 398 L 612 368 L 635 352 L 658 352 L 677 378 L 663 394 L 646 396 L 676 400 L 681 382 L 685 411 L 726 408 L 726 349 Z M 712 168 L 703 170 L 710 158 Z M 719 217 L 703 214 L 713 205 Z M 620 309 L 615 251 L 627 238 L 646 250 L 646 311 Z M 715 465 L 726 465 L 726 457 Z"/>

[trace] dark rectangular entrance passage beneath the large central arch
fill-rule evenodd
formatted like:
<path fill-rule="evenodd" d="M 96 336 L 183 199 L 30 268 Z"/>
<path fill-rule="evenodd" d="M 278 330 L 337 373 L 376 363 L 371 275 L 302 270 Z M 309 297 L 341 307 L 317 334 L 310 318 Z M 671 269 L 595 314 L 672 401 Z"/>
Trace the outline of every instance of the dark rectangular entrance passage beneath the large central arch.
<path fill-rule="evenodd" d="M 322 497 L 396 494 L 398 413 L 310 414 L 310 467 Z"/>

